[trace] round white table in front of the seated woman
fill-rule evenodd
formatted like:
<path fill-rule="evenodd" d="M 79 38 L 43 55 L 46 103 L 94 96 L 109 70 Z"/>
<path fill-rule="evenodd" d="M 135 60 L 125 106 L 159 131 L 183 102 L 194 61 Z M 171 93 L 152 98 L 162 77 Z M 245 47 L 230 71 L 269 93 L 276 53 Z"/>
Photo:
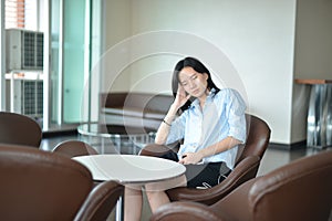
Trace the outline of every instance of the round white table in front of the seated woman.
<path fill-rule="evenodd" d="M 89 155 L 74 157 L 87 167 L 96 181 L 115 180 L 123 185 L 145 185 L 173 179 L 185 173 L 184 165 L 157 157 L 137 155 Z M 123 220 L 122 198 L 116 220 Z"/>

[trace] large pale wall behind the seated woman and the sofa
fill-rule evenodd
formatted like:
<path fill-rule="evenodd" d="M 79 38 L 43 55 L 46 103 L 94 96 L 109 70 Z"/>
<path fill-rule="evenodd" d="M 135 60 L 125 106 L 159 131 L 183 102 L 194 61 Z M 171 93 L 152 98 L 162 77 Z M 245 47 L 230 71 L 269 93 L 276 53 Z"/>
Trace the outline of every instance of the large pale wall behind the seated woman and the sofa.
<path fill-rule="evenodd" d="M 141 50 L 147 51 L 144 56 L 136 54 L 141 35 L 163 30 L 185 32 L 188 41 L 194 36 L 229 59 L 239 77 L 235 81 L 239 80 L 240 91 L 248 98 L 248 112 L 268 122 L 272 129 L 271 141 L 304 140 L 308 92 L 304 90 L 303 94 L 303 90 L 293 84 L 295 7 L 295 0 L 107 0 L 104 45 L 105 52 L 112 55 L 103 57 L 106 71 L 102 88 L 108 91 L 112 85 L 116 91 L 170 93 L 170 72 L 184 55 L 199 56 L 220 76 L 215 61 L 218 57 L 211 57 L 214 49 L 200 50 L 195 41 L 193 49 L 170 49 L 181 46 L 178 42 L 183 40 L 177 34 L 174 39 L 138 43 Z M 127 38 L 135 41 L 126 42 Z M 148 49 L 157 49 L 158 53 L 153 54 Z M 118 65 L 116 61 L 124 51 L 127 53 Z M 127 66 L 123 67 L 125 63 Z M 224 77 L 228 77 L 222 74 L 217 81 L 221 84 Z M 232 84 L 221 86 L 228 85 Z"/>

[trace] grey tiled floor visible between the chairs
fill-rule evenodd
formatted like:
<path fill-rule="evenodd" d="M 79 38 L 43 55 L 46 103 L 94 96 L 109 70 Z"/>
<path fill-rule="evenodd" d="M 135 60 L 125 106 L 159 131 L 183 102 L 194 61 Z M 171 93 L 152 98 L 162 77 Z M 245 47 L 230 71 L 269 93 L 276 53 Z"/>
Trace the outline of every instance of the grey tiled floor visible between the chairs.
<path fill-rule="evenodd" d="M 80 137 L 75 134 L 72 135 L 64 135 L 64 136 L 54 136 L 44 138 L 41 144 L 41 149 L 44 150 L 52 150 L 59 143 L 68 139 L 80 139 Z M 331 149 L 331 148 L 328 148 Z M 283 165 L 289 164 L 292 160 L 314 155 L 320 151 L 324 151 L 325 149 L 315 149 L 310 147 L 300 147 L 294 150 L 287 150 L 287 149 L 280 149 L 276 148 L 273 145 L 270 145 L 262 158 L 260 169 L 258 171 L 258 176 L 264 175 L 267 172 L 272 171 L 276 168 L 279 168 Z M 143 218 L 142 221 L 148 220 L 148 217 L 151 215 L 151 210 L 146 203 L 143 207 Z M 110 221 L 114 220 L 114 212 L 110 215 Z"/>

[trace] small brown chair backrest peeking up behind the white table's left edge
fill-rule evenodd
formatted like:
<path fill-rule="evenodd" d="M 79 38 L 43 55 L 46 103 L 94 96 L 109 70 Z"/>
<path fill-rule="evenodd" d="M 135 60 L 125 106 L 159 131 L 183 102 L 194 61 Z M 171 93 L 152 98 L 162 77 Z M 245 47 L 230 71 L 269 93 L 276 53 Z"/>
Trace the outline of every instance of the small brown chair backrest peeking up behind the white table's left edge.
<path fill-rule="evenodd" d="M 64 140 L 54 147 L 53 152 L 70 158 L 98 154 L 92 146 L 81 140 Z"/>

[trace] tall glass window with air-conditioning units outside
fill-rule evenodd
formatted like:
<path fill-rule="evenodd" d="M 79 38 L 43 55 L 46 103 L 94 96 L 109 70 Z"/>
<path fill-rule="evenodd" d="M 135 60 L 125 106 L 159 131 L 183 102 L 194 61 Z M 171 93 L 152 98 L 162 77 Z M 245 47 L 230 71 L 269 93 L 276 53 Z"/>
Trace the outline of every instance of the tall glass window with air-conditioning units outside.
<path fill-rule="evenodd" d="M 1 36 L 18 31 L 24 33 L 24 39 L 28 40 L 30 33 L 42 33 L 43 39 L 35 39 L 37 42 L 44 42 L 43 51 L 32 50 L 37 60 L 29 60 L 25 53 L 22 53 L 28 49 L 37 49 L 34 44 L 9 48 L 9 42 L 1 43 L 1 55 L 4 54 L 0 56 L 1 63 L 6 64 L 3 65 L 6 70 L 0 65 L 4 75 L 0 78 L 0 96 L 3 97 L 1 108 L 40 119 L 43 130 L 61 129 L 62 125 L 66 129 L 68 125 L 76 127 L 76 124 L 91 120 L 92 113 L 93 119 L 96 120 L 97 105 L 90 104 L 90 96 L 86 94 L 92 93 L 92 90 L 86 81 L 91 81 L 89 77 L 92 53 L 95 60 L 100 56 L 98 49 L 91 48 L 91 35 L 95 36 L 94 45 L 96 43 L 98 45 L 101 34 L 100 20 L 94 25 L 91 23 L 92 9 L 95 17 L 100 18 L 103 1 L 3 0 L 1 2 L 4 28 Z M 15 39 L 22 43 L 21 35 L 6 38 L 6 41 L 8 39 Z M 9 69 L 8 62 L 13 59 L 8 57 L 14 49 L 23 54 L 20 57 L 13 56 L 18 61 L 21 63 L 37 61 L 38 66 L 41 64 L 42 69 L 27 66 Z M 43 52 L 49 54 L 48 60 L 43 60 Z M 97 97 L 98 77 L 94 77 L 93 81 L 94 94 L 91 96 Z M 97 103 L 97 99 L 94 101 Z M 34 106 L 28 106 L 25 102 Z M 90 110 L 91 107 L 93 110 Z"/>

